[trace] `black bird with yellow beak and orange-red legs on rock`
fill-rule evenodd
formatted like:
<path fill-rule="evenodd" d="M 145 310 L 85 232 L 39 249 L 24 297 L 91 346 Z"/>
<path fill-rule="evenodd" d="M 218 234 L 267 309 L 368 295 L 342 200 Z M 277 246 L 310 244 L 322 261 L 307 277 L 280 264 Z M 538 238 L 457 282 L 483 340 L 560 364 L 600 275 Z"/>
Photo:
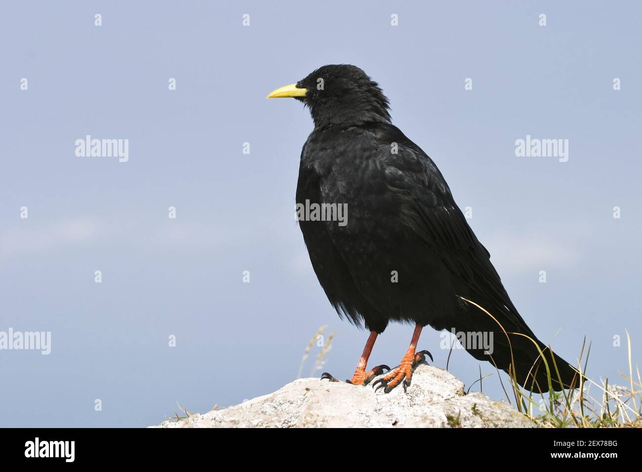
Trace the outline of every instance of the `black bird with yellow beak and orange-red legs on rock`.
<path fill-rule="evenodd" d="M 549 390 L 541 349 L 553 389 L 574 387 L 577 371 L 526 326 L 441 172 L 392 125 L 376 82 L 359 67 L 329 65 L 268 95 L 279 97 L 302 101 L 315 125 L 301 152 L 296 196 L 300 207 L 327 209 L 324 220 L 317 212 L 299 221 L 312 267 L 340 317 L 370 330 L 349 382 L 366 385 L 390 370 L 367 372 L 366 364 L 377 335 L 397 321 L 414 323 L 415 331 L 399 366 L 376 382 L 386 393 L 410 385 L 429 354 L 416 352 L 426 325 L 485 333 L 491 349 L 474 342 L 465 349 L 534 392 Z M 343 225 L 333 204 L 347 205 Z"/>

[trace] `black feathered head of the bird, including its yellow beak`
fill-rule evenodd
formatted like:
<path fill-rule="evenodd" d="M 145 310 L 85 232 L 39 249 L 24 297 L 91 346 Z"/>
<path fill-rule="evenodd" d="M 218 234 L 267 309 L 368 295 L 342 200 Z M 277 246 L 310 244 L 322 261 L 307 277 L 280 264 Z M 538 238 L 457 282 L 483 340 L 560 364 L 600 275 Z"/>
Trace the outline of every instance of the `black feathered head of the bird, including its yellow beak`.
<path fill-rule="evenodd" d="M 299 82 L 276 89 L 267 98 L 285 97 L 300 100 L 309 107 L 316 128 L 390 123 L 388 99 L 379 85 L 359 67 L 349 64 L 319 67 Z"/>

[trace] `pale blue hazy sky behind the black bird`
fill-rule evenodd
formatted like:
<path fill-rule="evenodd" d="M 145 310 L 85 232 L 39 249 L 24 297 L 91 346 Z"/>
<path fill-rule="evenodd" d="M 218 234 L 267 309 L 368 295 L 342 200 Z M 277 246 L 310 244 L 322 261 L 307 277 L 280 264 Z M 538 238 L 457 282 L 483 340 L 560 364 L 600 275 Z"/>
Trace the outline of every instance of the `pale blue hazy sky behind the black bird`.
<path fill-rule="evenodd" d="M 311 119 L 294 100 L 265 100 L 324 64 L 380 83 L 394 124 L 473 209 L 539 338 L 557 333 L 568 360 L 592 340 L 594 378 L 622 382 L 625 342 L 613 339 L 625 329 L 639 359 L 638 3 L 0 8 L 0 331 L 51 331 L 48 356 L 0 351 L 0 426 L 147 426 L 176 401 L 236 404 L 293 380 L 324 324 L 336 333 L 324 370 L 352 375 L 367 333 L 332 310 L 293 218 Z M 87 134 L 128 139 L 128 162 L 76 157 Z M 526 135 L 568 139 L 568 162 L 516 157 Z M 386 329 L 373 365 L 396 365 L 411 335 Z M 439 340 L 426 329 L 419 348 L 445 367 Z M 456 351 L 450 369 L 470 385 L 478 365 Z M 503 398 L 490 364 L 482 372 L 484 392 Z"/>

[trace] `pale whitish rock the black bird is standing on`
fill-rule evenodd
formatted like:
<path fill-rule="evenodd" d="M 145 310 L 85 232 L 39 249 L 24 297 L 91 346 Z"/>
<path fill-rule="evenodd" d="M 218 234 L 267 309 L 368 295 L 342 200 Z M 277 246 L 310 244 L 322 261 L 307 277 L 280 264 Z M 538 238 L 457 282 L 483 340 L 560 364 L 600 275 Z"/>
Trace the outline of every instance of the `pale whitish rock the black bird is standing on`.
<path fill-rule="evenodd" d="M 276 392 L 152 428 L 534 428 L 508 403 L 465 394 L 450 372 L 419 365 L 412 385 L 389 394 L 318 378 L 295 380 Z"/>

